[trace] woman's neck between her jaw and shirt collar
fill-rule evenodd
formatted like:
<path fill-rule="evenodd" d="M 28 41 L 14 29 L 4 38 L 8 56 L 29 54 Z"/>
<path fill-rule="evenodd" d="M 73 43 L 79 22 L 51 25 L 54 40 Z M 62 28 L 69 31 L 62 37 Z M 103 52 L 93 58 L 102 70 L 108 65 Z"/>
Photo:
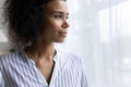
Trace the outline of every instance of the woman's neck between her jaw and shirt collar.
<path fill-rule="evenodd" d="M 52 60 L 56 51 L 53 44 L 35 44 L 26 48 L 25 53 L 33 60 Z"/>

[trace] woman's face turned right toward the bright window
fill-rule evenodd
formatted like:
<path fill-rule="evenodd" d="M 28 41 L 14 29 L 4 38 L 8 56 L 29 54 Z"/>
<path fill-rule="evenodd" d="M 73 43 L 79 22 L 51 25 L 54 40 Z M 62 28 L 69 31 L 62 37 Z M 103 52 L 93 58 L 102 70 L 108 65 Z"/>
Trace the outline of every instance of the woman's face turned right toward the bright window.
<path fill-rule="evenodd" d="M 44 9 L 43 32 L 40 38 L 47 42 L 63 42 L 69 24 L 67 4 L 62 0 L 52 0 Z"/>

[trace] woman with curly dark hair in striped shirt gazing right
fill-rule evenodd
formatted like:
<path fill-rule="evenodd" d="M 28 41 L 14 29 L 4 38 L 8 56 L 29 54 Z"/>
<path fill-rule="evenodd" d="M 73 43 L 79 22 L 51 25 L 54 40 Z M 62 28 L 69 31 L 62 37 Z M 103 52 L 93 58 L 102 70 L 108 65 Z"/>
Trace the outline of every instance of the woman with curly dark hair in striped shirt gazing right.
<path fill-rule="evenodd" d="M 22 49 L 0 57 L 0 87 L 87 87 L 81 59 L 53 46 L 68 33 L 64 0 L 7 0 L 4 14 Z"/>

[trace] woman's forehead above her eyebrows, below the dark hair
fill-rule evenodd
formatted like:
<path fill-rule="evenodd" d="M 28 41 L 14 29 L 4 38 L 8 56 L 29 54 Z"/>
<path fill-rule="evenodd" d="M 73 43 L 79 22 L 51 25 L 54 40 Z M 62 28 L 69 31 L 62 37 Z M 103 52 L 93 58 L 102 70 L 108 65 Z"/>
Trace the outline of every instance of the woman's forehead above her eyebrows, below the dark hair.
<path fill-rule="evenodd" d="M 66 1 L 63 0 L 51 0 L 49 3 L 47 3 L 45 10 L 48 12 L 52 12 L 52 11 L 68 12 L 68 7 Z"/>

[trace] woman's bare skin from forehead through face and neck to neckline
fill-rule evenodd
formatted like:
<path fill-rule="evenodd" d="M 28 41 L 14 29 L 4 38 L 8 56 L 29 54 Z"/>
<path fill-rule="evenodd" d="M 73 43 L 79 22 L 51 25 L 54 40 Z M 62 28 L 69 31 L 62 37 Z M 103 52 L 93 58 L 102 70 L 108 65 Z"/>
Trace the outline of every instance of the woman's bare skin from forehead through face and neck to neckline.
<path fill-rule="evenodd" d="M 67 4 L 62 0 L 52 0 L 44 9 L 44 29 L 39 33 L 31 48 L 25 50 L 25 53 L 31 58 L 37 69 L 43 74 L 47 83 L 50 83 L 55 62 L 55 46 L 53 42 L 63 42 L 67 36 L 69 24 Z"/>

